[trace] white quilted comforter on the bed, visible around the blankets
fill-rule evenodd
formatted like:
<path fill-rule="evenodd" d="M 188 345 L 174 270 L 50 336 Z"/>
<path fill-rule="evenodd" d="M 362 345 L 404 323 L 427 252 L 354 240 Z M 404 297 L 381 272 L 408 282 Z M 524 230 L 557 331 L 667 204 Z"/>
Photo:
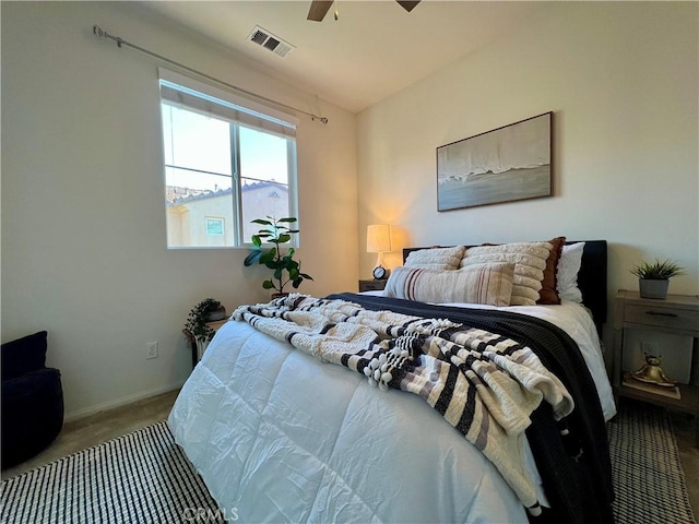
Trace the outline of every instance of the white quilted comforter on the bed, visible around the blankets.
<path fill-rule="evenodd" d="M 555 323 L 581 345 L 608 417 L 594 325 L 577 305 L 557 308 L 534 309 L 569 310 Z M 420 397 L 379 392 L 242 322 L 218 331 L 168 424 L 241 522 L 526 522 L 493 464 Z"/>

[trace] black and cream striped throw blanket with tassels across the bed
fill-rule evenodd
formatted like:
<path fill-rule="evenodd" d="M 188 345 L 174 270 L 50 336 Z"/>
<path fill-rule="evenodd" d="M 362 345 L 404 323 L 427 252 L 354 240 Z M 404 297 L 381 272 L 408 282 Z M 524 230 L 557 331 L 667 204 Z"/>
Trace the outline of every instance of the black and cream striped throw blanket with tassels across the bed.
<path fill-rule="evenodd" d="M 422 396 L 484 453 L 532 514 L 538 512 L 523 462 L 524 430 L 542 401 L 556 419 L 570 414 L 573 402 L 526 346 L 449 320 L 298 294 L 241 306 L 232 318 L 364 373 L 380 389 Z"/>

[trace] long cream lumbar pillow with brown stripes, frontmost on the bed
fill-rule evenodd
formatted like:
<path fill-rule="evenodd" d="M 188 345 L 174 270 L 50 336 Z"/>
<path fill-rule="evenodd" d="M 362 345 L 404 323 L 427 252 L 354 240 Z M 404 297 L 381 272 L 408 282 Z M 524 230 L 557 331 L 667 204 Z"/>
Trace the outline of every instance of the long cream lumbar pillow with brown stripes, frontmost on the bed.
<path fill-rule="evenodd" d="M 514 264 L 474 264 L 461 270 L 395 267 L 383 296 L 420 302 L 509 306 Z"/>

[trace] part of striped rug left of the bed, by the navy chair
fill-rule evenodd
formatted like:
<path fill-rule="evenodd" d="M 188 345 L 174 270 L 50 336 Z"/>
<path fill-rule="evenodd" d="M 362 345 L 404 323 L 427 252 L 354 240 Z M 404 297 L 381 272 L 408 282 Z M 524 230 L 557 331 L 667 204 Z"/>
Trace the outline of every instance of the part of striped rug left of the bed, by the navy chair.
<path fill-rule="evenodd" d="M 165 421 L 0 485 L 0 523 L 225 522 Z"/>

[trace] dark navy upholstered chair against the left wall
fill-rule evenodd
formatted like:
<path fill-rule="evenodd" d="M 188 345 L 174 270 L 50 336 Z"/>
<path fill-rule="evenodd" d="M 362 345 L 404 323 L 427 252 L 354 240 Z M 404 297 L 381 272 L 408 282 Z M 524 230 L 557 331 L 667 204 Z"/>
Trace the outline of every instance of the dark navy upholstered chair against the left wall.
<path fill-rule="evenodd" d="M 58 369 L 46 367 L 47 332 L 2 344 L 2 468 L 26 461 L 63 427 Z"/>

